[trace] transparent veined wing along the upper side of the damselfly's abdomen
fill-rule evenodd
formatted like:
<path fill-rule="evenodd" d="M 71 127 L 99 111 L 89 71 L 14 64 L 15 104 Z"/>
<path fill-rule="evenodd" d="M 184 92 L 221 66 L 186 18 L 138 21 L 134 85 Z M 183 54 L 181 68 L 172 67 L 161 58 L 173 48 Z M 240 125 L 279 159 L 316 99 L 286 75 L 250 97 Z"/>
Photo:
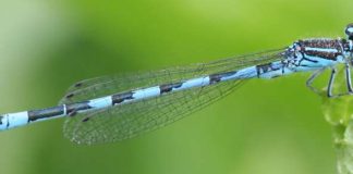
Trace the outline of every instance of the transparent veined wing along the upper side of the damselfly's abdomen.
<path fill-rule="evenodd" d="M 282 59 L 284 49 L 240 55 L 209 63 L 196 63 L 186 66 L 176 66 L 155 72 L 144 72 L 127 75 L 102 76 L 84 79 L 71 86 L 60 104 L 73 103 L 87 99 L 94 99 L 112 94 L 161 85 L 178 83 L 197 76 L 236 71 L 254 64 L 263 64 Z"/>

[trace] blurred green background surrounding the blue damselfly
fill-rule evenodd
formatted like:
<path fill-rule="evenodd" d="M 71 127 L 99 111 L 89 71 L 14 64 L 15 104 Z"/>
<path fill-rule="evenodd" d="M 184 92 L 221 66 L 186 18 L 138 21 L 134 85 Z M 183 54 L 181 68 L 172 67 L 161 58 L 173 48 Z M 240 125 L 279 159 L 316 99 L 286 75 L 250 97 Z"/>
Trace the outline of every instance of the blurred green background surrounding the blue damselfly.
<path fill-rule="evenodd" d="M 0 2 L 0 113 L 56 105 L 73 83 L 343 37 L 352 0 Z M 308 74 L 251 80 L 170 126 L 80 147 L 63 120 L 0 134 L 3 174 L 332 174 L 336 156 Z"/>

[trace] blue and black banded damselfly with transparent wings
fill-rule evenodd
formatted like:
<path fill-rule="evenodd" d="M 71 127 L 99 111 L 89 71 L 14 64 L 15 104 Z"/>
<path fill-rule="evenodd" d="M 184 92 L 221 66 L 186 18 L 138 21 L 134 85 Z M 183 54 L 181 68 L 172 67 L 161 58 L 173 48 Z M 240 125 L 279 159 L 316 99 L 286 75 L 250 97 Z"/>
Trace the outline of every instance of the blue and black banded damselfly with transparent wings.
<path fill-rule="evenodd" d="M 346 39 L 312 38 L 290 47 L 129 76 L 105 76 L 74 84 L 58 107 L 0 115 L 0 129 L 53 117 L 68 117 L 64 135 L 77 144 L 119 141 L 166 126 L 212 103 L 249 78 L 273 78 L 314 72 L 306 82 L 331 70 L 327 96 L 333 97 L 337 65 L 345 65 L 348 91 L 353 94 L 353 24 Z"/>

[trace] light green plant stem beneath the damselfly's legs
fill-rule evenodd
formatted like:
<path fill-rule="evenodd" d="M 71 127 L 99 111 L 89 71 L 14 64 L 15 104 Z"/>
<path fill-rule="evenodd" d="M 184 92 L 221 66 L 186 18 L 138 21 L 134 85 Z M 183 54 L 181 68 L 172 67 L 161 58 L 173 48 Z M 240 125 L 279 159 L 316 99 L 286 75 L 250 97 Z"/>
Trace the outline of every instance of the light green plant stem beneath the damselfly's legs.
<path fill-rule="evenodd" d="M 342 69 L 333 85 L 340 92 L 346 91 Z M 325 91 L 326 92 L 326 91 Z M 324 94 L 324 92 L 322 92 Z M 325 119 L 333 127 L 333 145 L 339 174 L 353 174 L 353 96 L 328 98 L 322 96 Z"/>

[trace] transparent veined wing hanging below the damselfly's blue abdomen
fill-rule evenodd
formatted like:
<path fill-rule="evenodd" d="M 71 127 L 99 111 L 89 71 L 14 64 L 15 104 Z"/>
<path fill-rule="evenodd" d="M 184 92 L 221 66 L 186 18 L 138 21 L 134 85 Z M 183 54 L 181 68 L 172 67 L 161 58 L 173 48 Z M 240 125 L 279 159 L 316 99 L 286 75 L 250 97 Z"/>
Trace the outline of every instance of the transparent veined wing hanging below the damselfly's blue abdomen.
<path fill-rule="evenodd" d="M 228 95 L 244 80 L 227 82 L 169 94 L 135 103 L 73 116 L 64 124 L 65 137 L 84 145 L 120 141 L 163 127 Z M 88 120 L 83 122 L 83 120 Z"/>

